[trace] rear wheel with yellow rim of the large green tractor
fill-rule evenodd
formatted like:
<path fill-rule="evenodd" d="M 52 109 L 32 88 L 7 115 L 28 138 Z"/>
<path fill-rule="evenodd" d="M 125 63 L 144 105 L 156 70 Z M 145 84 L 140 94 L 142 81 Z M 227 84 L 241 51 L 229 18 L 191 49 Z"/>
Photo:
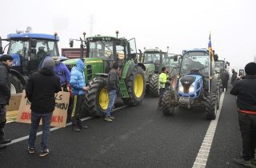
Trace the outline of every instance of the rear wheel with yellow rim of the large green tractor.
<path fill-rule="evenodd" d="M 135 81 L 135 79 L 139 79 Z M 140 82 L 140 83 L 136 83 Z M 138 90 L 135 90 L 135 84 Z M 122 98 L 123 102 L 129 106 L 137 106 L 145 96 L 146 79 L 141 66 L 134 66 L 130 76 L 126 78 L 126 88 L 130 98 Z"/>

